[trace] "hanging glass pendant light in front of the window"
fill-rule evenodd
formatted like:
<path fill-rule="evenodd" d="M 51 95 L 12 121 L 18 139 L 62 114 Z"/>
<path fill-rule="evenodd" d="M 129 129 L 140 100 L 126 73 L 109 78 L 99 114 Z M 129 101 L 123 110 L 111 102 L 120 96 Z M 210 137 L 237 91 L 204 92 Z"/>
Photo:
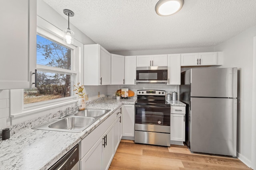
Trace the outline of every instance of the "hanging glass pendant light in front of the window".
<path fill-rule="evenodd" d="M 74 16 L 74 12 L 72 12 L 71 10 L 63 10 L 63 13 L 68 16 L 68 29 L 64 29 L 63 30 L 63 40 L 64 42 L 66 42 L 67 44 L 73 44 L 74 43 L 74 37 L 75 37 L 75 33 L 74 31 L 72 31 L 69 28 L 69 17 Z"/>

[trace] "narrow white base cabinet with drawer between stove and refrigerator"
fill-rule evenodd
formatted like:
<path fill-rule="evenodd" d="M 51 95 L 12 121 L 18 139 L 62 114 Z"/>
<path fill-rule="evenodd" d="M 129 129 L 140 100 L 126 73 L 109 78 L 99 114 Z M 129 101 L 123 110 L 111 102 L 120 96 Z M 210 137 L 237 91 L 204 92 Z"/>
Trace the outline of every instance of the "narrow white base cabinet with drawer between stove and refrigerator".
<path fill-rule="evenodd" d="M 185 141 L 185 106 L 171 106 L 171 144 L 183 145 Z"/>

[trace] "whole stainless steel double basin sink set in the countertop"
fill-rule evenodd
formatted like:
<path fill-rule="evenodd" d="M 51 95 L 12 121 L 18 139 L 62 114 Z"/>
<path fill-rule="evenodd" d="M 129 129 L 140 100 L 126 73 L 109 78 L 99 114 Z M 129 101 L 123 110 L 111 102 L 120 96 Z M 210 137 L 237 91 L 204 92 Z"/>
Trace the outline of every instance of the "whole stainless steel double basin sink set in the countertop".
<path fill-rule="evenodd" d="M 32 129 L 82 132 L 109 111 L 110 110 L 108 109 L 85 109 L 62 119 L 53 119 L 41 125 L 32 127 Z"/>

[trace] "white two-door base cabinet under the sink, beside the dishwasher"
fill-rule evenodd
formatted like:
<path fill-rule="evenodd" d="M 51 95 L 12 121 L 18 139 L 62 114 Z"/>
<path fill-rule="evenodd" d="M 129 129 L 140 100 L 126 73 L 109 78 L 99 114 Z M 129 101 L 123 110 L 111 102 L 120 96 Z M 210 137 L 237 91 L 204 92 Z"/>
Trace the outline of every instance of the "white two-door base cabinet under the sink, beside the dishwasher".
<path fill-rule="evenodd" d="M 80 170 L 109 168 L 115 153 L 114 118 L 113 113 L 80 142 Z"/>

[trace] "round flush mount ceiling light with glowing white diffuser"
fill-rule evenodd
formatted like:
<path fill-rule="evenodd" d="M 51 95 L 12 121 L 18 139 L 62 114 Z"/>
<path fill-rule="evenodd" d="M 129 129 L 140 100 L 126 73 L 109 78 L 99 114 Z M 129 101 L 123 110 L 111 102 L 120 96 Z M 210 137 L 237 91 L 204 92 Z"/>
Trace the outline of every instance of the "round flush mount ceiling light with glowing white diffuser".
<path fill-rule="evenodd" d="M 156 14 L 170 16 L 178 12 L 184 4 L 184 0 L 159 0 L 156 3 Z"/>

